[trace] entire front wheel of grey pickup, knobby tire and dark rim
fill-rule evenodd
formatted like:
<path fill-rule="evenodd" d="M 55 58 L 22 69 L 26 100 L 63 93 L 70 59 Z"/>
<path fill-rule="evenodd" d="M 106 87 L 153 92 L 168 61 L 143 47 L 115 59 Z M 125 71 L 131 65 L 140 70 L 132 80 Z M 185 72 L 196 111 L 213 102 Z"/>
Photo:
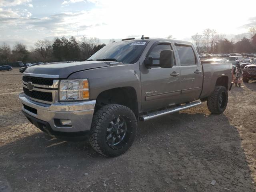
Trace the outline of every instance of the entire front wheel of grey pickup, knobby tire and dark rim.
<path fill-rule="evenodd" d="M 114 157 L 130 148 L 137 133 L 137 120 L 130 108 L 108 104 L 93 116 L 90 144 L 96 152 Z"/>

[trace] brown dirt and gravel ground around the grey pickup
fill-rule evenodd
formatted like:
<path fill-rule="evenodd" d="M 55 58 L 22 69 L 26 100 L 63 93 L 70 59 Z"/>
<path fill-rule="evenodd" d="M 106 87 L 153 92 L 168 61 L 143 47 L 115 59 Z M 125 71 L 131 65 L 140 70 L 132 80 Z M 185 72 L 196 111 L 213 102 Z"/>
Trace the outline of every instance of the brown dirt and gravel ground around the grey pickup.
<path fill-rule="evenodd" d="M 256 189 L 256 81 L 233 87 L 221 115 L 204 102 L 139 122 L 130 150 L 106 158 L 88 141 L 50 138 L 30 124 L 20 112 L 21 77 L 17 68 L 0 72 L 0 192 Z"/>

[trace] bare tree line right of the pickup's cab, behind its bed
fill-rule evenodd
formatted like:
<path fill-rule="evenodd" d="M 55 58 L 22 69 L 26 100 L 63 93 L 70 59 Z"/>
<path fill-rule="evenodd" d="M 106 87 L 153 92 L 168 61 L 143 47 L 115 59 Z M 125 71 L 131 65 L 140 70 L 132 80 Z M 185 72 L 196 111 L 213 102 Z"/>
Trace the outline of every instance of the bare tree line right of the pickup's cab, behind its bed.
<path fill-rule="evenodd" d="M 198 53 L 255 53 L 256 26 L 250 27 L 248 33 L 238 34 L 228 40 L 224 34 L 207 28 L 202 34 L 191 36 Z"/>

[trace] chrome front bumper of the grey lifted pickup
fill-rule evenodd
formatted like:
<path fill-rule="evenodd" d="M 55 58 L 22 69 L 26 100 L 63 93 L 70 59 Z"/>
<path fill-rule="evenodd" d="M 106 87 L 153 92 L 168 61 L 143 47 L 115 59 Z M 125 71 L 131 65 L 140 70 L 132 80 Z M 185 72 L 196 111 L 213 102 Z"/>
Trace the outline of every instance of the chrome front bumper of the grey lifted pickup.
<path fill-rule="evenodd" d="M 19 98 L 25 115 L 28 114 L 38 120 L 48 122 L 53 131 L 83 132 L 91 128 L 96 100 L 45 104 L 26 98 L 24 93 L 19 94 Z M 33 109 L 25 109 L 24 105 Z M 62 126 L 56 123 L 60 119 L 71 120 L 72 126 Z"/>

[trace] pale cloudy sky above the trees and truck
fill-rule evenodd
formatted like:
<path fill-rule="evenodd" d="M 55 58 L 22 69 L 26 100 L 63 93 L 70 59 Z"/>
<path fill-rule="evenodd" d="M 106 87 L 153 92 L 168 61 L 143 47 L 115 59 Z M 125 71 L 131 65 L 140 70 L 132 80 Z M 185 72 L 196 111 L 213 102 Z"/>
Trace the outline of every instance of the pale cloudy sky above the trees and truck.
<path fill-rule="evenodd" d="M 256 26 L 256 0 L 0 0 L 0 44 L 54 37 L 140 37 L 191 41 L 215 29 L 229 38 Z"/>

